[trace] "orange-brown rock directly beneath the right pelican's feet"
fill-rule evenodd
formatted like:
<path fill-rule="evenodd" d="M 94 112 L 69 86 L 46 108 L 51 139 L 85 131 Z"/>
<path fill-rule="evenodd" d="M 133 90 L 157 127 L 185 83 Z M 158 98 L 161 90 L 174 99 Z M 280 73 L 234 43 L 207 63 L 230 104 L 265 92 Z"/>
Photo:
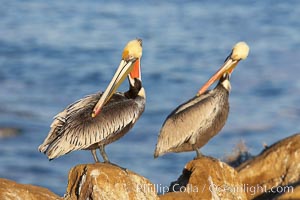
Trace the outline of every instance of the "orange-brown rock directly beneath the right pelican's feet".
<path fill-rule="evenodd" d="M 187 163 L 170 191 L 160 199 L 247 199 L 235 169 L 205 156 Z"/>

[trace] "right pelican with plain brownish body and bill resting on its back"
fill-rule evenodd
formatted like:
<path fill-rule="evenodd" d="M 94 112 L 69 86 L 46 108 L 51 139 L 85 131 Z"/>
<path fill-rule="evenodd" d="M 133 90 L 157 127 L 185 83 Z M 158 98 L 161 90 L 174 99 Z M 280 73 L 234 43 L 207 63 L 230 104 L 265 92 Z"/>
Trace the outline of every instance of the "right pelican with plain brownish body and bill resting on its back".
<path fill-rule="evenodd" d="M 225 125 L 229 112 L 229 76 L 238 62 L 246 59 L 249 47 L 237 43 L 222 67 L 204 84 L 198 94 L 178 106 L 165 120 L 154 152 L 154 157 L 168 152 L 196 151 L 205 145 Z M 219 79 L 217 86 L 206 91 Z"/>

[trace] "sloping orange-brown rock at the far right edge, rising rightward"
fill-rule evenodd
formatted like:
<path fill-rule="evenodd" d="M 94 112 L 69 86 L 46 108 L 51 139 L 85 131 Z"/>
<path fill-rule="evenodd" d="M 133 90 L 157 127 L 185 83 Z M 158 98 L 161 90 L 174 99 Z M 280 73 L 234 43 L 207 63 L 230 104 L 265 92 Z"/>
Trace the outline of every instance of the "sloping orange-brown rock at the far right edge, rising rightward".
<path fill-rule="evenodd" d="M 270 199 L 284 193 L 284 186 L 299 185 L 300 134 L 273 144 L 236 169 L 249 199 Z M 300 199 L 299 192 L 286 195 L 293 194 Z"/>

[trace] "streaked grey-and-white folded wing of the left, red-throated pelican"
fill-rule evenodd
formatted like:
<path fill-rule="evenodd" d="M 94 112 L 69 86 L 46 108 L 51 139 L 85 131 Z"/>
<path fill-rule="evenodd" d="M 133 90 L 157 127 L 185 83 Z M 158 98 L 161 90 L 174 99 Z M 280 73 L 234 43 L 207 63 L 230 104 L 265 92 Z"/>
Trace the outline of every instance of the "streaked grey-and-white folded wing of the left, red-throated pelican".
<path fill-rule="evenodd" d="M 87 96 L 59 113 L 51 125 L 41 148 L 49 159 L 109 139 L 125 127 L 135 123 L 143 109 L 132 99 L 115 93 L 101 113 L 91 117 L 92 110 L 102 94 Z"/>

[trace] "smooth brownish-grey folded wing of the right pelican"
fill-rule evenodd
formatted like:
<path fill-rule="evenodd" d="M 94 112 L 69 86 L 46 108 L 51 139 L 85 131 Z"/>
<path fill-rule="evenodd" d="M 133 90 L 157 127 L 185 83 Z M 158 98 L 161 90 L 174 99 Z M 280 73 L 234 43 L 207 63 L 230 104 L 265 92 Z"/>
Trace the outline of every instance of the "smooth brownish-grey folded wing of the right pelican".
<path fill-rule="evenodd" d="M 196 136 L 209 132 L 218 119 L 218 99 L 213 91 L 194 97 L 178 106 L 165 120 L 158 138 L 155 157 L 166 152 L 190 148 Z M 185 146 L 186 145 L 186 146 Z"/>

